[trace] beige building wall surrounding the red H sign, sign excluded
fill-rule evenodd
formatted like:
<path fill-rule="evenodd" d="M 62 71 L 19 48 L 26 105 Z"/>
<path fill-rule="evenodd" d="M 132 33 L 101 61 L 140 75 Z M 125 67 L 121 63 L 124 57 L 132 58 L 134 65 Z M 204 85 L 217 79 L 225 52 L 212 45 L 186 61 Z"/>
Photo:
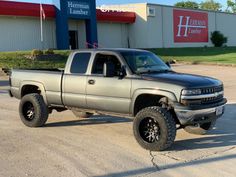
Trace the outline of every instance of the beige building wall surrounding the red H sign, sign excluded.
<path fill-rule="evenodd" d="M 127 5 L 124 5 L 127 6 Z M 168 47 L 203 47 L 213 46 L 211 32 L 221 31 L 228 37 L 228 46 L 236 46 L 236 15 L 204 11 L 208 13 L 209 42 L 207 43 L 175 43 L 173 32 L 173 9 L 171 6 L 156 4 L 130 4 L 136 12 L 137 19 L 130 24 L 129 37 L 133 48 L 168 48 Z M 147 16 L 147 8 L 155 8 L 155 17 Z M 183 9 L 187 10 L 187 9 Z M 200 11 L 201 12 L 201 11 Z"/>

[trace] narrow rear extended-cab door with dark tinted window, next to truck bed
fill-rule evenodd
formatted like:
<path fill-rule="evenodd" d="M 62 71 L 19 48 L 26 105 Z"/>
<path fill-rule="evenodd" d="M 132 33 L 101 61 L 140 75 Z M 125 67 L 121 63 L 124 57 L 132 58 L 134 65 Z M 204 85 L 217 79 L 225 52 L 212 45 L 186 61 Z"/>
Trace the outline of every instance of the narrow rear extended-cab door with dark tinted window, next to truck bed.
<path fill-rule="evenodd" d="M 90 52 L 79 52 L 72 56 L 71 63 L 63 77 L 62 96 L 68 107 L 86 108 L 87 68 L 91 58 Z"/>

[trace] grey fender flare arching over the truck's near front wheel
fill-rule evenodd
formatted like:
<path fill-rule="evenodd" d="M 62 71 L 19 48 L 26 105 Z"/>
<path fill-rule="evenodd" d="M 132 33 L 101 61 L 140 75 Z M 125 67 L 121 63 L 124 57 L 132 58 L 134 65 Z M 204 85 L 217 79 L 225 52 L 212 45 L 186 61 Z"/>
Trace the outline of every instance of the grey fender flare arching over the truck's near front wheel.
<path fill-rule="evenodd" d="M 136 99 L 142 95 L 142 94 L 150 94 L 150 95 L 159 95 L 164 96 L 170 99 L 173 102 L 177 102 L 177 98 L 174 93 L 166 91 L 166 90 L 158 90 L 158 89 L 138 89 L 135 90 L 132 98 L 131 98 L 131 105 L 130 105 L 130 113 L 131 115 L 134 115 L 134 106 Z"/>

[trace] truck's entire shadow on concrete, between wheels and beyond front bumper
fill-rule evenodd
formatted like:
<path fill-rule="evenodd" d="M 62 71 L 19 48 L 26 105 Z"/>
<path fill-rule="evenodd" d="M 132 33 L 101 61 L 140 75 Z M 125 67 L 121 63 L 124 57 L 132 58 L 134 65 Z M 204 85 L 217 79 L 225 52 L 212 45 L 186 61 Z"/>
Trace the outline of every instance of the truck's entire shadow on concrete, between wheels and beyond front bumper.
<path fill-rule="evenodd" d="M 226 105 L 224 116 L 217 120 L 216 127 L 209 131 L 207 135 L 187 135 L 188 139 L 177 138 L 173 146 L 168 151 L 177 152 L 183 150 L 211 149 L 219 147 L 236 146 L 236 104 Z M 66 126 L 88 126 L 101 124 L 130 123 L 132 119 L 111 117 L 111 116 L 92 116 L 87 119 L 79 119 L 64 122 L 47 123 L 45 127 L 66 127 Z M 185 136 L 186 137 L 186 136 Z"/>

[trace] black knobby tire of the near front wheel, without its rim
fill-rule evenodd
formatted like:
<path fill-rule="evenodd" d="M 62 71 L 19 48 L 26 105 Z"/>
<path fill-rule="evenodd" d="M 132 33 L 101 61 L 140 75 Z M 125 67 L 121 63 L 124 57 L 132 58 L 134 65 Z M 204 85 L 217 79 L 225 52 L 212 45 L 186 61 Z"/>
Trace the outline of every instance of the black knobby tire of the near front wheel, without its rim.
<path fill-rule="evenodd" d="M 142 137 L 141 131 L 141 129 L 143 129 L 141 127 L 141 122 L 147 118 L 151 118 L 155 121 L 155 123 L 158 123 L 160 131 L 158 140 L 155 140 L 155 142 L 151 143 Z M 143 148 L 150 151 L 163 151 L 174 143 L 176 137 L 176 123 L 170 112 L 168 112 L 166 109 L 157 106 L 148 107 L 142 109 L 136 115 L 133 122 L 133 132 L 137 142 Z"/>

